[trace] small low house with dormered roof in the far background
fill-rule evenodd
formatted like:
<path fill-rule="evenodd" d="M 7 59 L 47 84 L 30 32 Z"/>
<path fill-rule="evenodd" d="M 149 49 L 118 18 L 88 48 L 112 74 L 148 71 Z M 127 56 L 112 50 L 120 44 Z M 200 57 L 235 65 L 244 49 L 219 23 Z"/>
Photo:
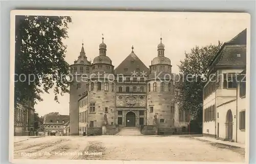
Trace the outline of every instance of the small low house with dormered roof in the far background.
<path fill-rule="evenodd" d="M 44 116 L 45 135 L 63 135 L 63 126 L 69 122 L 69 115 L 52 112 Z"/>

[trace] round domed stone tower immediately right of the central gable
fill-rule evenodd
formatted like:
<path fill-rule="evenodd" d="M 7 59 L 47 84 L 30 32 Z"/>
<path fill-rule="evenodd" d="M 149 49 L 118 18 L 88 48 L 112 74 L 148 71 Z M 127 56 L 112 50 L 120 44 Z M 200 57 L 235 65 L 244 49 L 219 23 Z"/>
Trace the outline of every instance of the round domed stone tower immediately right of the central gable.
<path fill-rule="evenodd" d="M 153 125 L 157 116 L 158 128 L 172 128 L 174 124 L 173 78 L 170 59 L 164 56 L 164 44 L 160 38 L 158 55 L 150 65 L 147 80 L 147 125 Z"/>

